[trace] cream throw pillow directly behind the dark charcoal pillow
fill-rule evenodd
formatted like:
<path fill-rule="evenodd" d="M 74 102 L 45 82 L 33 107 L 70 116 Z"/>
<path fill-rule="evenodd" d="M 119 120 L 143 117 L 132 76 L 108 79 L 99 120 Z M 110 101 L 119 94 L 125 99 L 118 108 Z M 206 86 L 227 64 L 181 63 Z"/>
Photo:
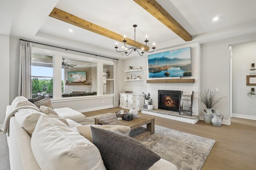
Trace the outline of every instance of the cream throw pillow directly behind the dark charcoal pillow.
<path fill-rule="evenodd" d="M 91 132 L 91 126 L 93 127 L 98 127 L 101 129 L 109 130 L 109 131 L 114 131 L 121 133 L 123 135 L 128 136 L 131 128 L 128 126 L 121 126 L 121 125 L 84 125 L 84 126 L 78 126 L 76 127 L 80 135 L 88 139 L 89 141 L 92 141 L 92 132 Z"/>

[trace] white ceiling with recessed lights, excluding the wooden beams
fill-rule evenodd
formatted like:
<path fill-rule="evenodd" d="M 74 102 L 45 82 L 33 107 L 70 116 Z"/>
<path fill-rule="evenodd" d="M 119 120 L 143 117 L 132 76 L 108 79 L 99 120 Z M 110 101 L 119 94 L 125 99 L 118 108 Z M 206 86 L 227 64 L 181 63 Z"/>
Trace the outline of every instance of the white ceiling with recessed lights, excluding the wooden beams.
<path fill-rule="evenodd" d="M 256 0 L 156 0 L 191 35 L 192 42 L 228 38 L 256 33 Z M 49 17 L 56 7 L 106 29 L 134 37 L 157 49 L 185 43 L 133 0 L 0 0 L 0 34 L 50 43 L 114 58 L 127 58 L 116 53 L 116 41 Z M 33 7 L 33 8 L 31 8 Z M 6 10 L 8 9 L 8 10 Z M 218 21 L 212 21 L 214 17 Z M 4 20 L 9 18 L 12 22 Z M 11 28 L 10 28 L 11 27 Z M 70 33 L 68 29 L 74 31 Z M 121 47 L 121 43 L 118 43 Z M 134 55 L 136 56 L 136 55 Z"/>

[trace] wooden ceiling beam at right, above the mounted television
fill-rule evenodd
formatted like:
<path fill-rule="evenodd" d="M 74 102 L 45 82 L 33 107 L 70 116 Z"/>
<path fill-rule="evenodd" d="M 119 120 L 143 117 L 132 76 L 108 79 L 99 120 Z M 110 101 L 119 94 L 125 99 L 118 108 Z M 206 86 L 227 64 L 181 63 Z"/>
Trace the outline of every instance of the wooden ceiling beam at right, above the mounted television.
<path fill-rule="evenodd" d="M 147 12 L 149 12 L 152 16 L 166 25 L 169 29 L 171 29 L 174 33 L 176 33 L 179 37 L 184 39 L 185 41 L 191 41 L 192 36 L 184 29 L 172 16 L 164 10 L 160 4 L 158 4 L 155 0 L 133 0 L 139 6 L 144 8 Z"/>

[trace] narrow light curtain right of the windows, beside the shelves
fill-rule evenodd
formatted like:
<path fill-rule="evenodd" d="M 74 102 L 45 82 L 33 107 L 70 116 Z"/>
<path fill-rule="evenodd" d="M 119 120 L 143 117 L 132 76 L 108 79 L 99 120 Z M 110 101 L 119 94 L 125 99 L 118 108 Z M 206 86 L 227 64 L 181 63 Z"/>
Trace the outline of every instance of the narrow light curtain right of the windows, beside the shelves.
<path fill-rule="evenodd" d="M 114 107 L 119 107 L 119 65 L 118 60 L 114 60 Z"/>

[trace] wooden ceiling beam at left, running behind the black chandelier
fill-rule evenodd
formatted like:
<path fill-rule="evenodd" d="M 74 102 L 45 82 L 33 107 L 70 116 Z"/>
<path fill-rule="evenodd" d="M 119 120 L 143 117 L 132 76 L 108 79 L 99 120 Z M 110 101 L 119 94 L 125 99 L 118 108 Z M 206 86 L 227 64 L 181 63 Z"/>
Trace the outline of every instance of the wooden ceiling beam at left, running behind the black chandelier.
<path fill-rule="evenodd" d="M 123 35 L 120 35 L 118 33 L 110 31 L 106 28 L 100 27 L 99 25 L 96 25 L 89 21 L 83 20 L 82 18 L 73 16 L 72 14 L 69 14 L 65 11 L 59 10 L 58 8 L 54 8 L 49 16 L 123 43 L 123 40 L 124 40 Z M 126 41 L 127 41 L 126 42 L 127 45 L 134 46 L 134 40 L 126 38 Z M 135 42 L 135 46 L 142 48 L 145 45 Z M 114 47 L 114 45 L 113 45 L 113 47 Z M 149 50 L 148 46 L 144 47 L 144 51 L 148 51 L 148 50 Z"/>

